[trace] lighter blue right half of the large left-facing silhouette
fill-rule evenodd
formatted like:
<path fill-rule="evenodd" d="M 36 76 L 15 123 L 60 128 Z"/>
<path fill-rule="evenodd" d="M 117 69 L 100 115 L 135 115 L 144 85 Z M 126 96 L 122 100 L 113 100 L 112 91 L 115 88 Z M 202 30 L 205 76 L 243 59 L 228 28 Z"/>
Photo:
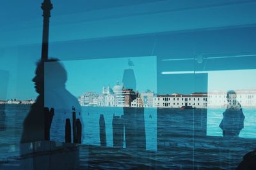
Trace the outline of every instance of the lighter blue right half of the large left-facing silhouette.
<path fill-rule="evenodd" d="M 51 141 L 65 142 L 65 124 L 70 120 L 71 136 L 73 143 L 77 143 L 77 124 L 81 121 L 81 106 L 75 96 L 65 87 L 67 81 L 67 71 L 58 59 L 51 59 L 45 62 L 44 66 L 44 106 L 54 108 L 54 117 L 51 125 Z M 81 134 L 81 132 L 79 132 Z M 83 132 L 82 132 L 83 134 Z M 79 140 L 81 141 L 81 140 Z"/>

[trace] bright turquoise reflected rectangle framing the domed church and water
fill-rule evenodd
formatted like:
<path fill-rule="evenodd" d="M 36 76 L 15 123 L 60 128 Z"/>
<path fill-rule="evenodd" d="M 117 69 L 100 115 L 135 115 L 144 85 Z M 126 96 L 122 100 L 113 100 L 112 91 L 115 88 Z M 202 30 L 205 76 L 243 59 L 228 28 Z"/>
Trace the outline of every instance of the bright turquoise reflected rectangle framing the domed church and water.
<path fill-rule="evenodd" d="M 67 90 L 81 105 L 83 144 L 156 150 L 156 57 L 61 63 L 68 73 Z"/>

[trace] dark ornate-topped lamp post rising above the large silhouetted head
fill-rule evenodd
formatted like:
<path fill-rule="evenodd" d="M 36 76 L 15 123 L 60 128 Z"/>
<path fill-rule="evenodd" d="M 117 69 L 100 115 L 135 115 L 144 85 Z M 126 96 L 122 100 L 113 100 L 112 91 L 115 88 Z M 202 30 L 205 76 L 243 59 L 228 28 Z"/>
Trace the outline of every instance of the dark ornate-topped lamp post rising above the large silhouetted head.
<path fill-rule="evenodd" d="M 51 0 L 44 0 L 41 6 L 44 17 L 42 55 L 41 60 L 44 62 L 48 59 L 48 42 L 49 42 L 49 20 L 51 17 L 52 3 Z"/>

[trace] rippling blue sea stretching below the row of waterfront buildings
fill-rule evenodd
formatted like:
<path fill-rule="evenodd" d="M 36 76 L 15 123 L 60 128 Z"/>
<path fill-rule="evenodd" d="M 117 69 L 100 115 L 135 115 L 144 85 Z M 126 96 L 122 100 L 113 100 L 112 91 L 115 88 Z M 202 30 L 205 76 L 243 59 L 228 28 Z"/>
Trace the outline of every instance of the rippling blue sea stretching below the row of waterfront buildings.
<path fill-rule="evenodd" d="M 11 162 L 19 158 L 22 123 L 30 107 L 0 104 L 0 165 L 8 158 Z M 127 111 L 116 107 L 81 107 L 81 148 L 93 148 L 89 155 L 87 151 L 80 150 L 83 159 L 88 156 L 93 160 L 82 161 L 82 164 L 90 164 L 92 169 L 234 169 L 246 153 L 256 148 L 256 110 L 243 108 L 244 128 L 238 138 L 222 136 L 219 125 L 223 111 L 225 109 L 222 108 L 128 108 Z M 100 115 L 104 117 L 106 133 L 104 149 L 100 143 Z M 119 150 L 115 150 L 113 144 L 113 117 L 124 121 Z M 60 129 L 58 132 L 63 134 L 65 116 L 58 124 L 52 124 L 51 129 Z M 63 141 L 63 136 L 54 140 Z M 120 167 L 124 162 L 125 166 Z"/>

